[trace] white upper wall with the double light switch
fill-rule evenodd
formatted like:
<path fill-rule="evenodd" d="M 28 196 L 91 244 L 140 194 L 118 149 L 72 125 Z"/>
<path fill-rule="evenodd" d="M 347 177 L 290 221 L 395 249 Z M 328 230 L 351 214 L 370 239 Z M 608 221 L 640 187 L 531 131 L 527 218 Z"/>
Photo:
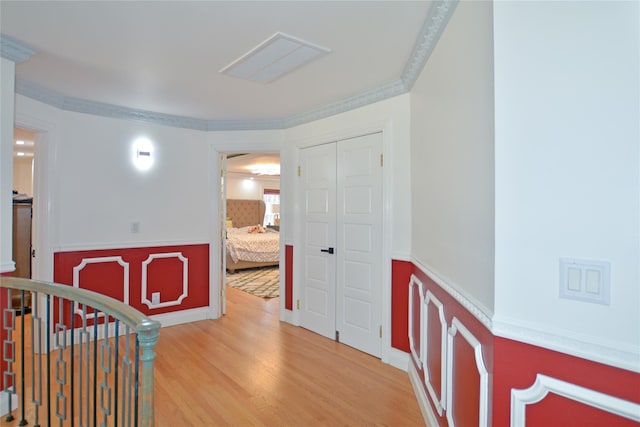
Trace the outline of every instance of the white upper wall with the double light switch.
<path fill-rule="evenodd" d="M 638 369 L 638 2 L 494 7 L 496 330 Z M 560 257 L 609 262 L 610 305 L 559 298 Z"/>

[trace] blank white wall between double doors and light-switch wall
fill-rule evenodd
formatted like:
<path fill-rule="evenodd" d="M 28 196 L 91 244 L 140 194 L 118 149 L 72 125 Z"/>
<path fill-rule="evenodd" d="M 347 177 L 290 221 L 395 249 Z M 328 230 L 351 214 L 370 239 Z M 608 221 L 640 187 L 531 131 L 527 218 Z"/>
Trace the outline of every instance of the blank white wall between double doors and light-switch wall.
<path fill-rule="evenodd" d="M 460 2 L 411 91 L 412 256 L 494 303 L 492 4 Z"/>

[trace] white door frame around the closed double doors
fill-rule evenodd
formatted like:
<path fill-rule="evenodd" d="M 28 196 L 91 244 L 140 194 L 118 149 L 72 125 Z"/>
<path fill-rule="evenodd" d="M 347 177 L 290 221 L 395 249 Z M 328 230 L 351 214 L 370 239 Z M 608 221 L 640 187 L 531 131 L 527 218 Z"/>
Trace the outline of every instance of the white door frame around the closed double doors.
<path fill-rule="evenodd" d="M 371 121 L 361 125 L 350 126 L 340 129 L 335 127 L 332 131 L 317 134 L 306 139 L 300 139 L 295 142 L 293 164 L 290 169 L 297 170 L 300 165 L 301 150 L 313 147 L 315 145 L 328 144 L 346 139 L 356 138 L 359 136 L 369 135 L 373 133 L 382 133 L 382 154 L 384 158 L 384 167 L 382 168 L 382 344 L 380 359 L 385 363 L 392 363 L 391 351 L 391 259 L 392 259 L 392 224 L 393 224 L 393 158 L 392 158 L 392 130 L 393 123 L 391 119 L 383 119 Z M 295 166 L 294 166 L 295 165 Z M 293 228 L 294 235 L 294 254 L 293 254 L 293 314 L 291 323 L 301 325 L 300 310 L 296 309 L 296 301 L 302 298 L 300 285 L 302 278 L 300 277 L 302 260 L 302 233 L 303 224 L 297 220 L 301 218 L 302 206 L 301 201 L 297 200 L 300 194 L 300 180 L 298 176 L 293 177 L 291 194 L 295 194 L 296 200 L 292 203 L 292 219 L 290 226 Z M 392 363 L 393 364 L 393 363 Z"/>

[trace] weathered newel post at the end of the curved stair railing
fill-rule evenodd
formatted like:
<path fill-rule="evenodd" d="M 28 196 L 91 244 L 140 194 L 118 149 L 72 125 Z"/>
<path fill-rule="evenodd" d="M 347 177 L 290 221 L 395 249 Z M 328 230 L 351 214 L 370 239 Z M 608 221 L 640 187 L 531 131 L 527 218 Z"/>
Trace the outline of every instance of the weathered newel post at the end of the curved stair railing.
<path fill-rule="evenodd" d="M 148 321 L 138 328 L 138 343 L 142 349 L 142 381 L 140 387 L 140 425 L 155 426 L 155 397 L 153 379 L 153 361 L 156 358 L 154 348 L 158 343 L 160 323 Z"/>

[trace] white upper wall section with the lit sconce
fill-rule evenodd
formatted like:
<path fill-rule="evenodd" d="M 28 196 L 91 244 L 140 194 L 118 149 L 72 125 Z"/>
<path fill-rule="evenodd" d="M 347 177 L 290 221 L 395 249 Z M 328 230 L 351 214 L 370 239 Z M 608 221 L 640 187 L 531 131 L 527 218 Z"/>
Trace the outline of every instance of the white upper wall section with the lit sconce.
<path fill-rule="evenodd" d="M 206 242 L 210 235 L 209 147 L 203 132 L 61 111 L 21 96 L 16 115 L 54 129 L 44 167 L 54 208 L 53 250 Z M 154 165 L 133 163 L 149 138 Z M 132 233 L 133 222 L 140 230 Z"/>

